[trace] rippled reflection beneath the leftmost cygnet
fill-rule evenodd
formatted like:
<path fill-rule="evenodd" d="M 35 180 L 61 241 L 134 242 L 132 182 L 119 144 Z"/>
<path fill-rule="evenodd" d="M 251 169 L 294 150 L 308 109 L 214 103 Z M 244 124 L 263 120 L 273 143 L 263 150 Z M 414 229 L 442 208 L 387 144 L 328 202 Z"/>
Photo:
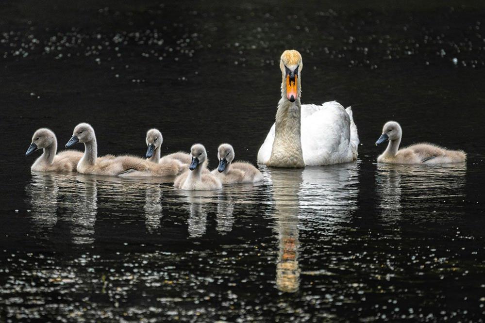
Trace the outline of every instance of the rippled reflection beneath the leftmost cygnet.
<path fill-rule="evenodd" d="M 33 173 L 32 181 L 27 184 L 25 191 L 30 198 L 33 231 L 47 235 L 57 223 L 59 186 L 56 175 Z"/>

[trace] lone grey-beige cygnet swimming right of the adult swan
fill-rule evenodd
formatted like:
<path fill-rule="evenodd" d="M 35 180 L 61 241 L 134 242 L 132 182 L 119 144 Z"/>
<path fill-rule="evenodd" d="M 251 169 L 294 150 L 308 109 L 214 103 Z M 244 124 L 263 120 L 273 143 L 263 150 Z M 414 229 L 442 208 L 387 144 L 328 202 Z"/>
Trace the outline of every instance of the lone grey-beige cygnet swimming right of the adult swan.
<path fill-rule="evenodd" d="M 377 162 L 387 164 L 445 164 L 463 162 L 467 154 L 463 150 L 449 150 L 433 144 L 415 144 L 399 149 L 402 129 L 396 121 L 388 121 L 382 129 L 382 135 L 376 141 L 376 146 L 389 140 L 389 144 L 378 158 Z"/>

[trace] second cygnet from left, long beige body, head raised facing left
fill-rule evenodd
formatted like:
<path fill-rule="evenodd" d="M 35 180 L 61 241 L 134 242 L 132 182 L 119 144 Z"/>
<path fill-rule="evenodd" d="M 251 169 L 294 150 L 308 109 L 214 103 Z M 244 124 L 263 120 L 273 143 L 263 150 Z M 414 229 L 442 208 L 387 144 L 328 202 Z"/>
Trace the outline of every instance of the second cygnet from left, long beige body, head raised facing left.
<path fill-rule="evenodd" d="M 175 176 L 182 168 L 182 164 L 178 161 L 155 164 L 133 156 L 98 158 L 96 134 L 93 127 L 87 123 L 80 123 L 74 128 L 66 147 L 77 143 L 84 143 L 84 155 L 76 166 L 77 172 L 81 174 L 124 177 Z"/>

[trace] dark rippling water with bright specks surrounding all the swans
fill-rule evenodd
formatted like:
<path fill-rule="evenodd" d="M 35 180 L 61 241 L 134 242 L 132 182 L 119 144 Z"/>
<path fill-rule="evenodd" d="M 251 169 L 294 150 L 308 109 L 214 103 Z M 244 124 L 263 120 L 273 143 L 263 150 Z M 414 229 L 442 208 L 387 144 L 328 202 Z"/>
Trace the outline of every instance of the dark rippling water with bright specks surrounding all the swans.
<path fill-rule="evenodd" d="M 485 6 L 462 4 L 3 3 L 0 321 L 483 322 Z M 255 162 L 286 48 L 304 102 L 352 105 L 359 161 L 210 193 L 30 173 L 35 129 L 83 121 L 100 154 L 157 127 Z M 377 165 L 389 119 L 467 164 Z"/>

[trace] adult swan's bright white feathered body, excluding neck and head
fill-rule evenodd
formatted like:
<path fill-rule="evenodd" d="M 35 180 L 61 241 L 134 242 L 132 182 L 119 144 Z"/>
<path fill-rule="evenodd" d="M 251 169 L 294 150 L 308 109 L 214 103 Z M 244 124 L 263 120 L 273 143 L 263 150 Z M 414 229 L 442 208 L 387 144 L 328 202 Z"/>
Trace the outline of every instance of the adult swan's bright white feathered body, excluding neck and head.
<path fill-rule="evenodd" d="M 258 163 L 267 164 L 273 149 L 275 124 L 259 148 Z M 301 105 L 301 150 L 305 166 L 320 166 L 357 159 L 359 136 L 351 107 L 336 102 Z"/>

